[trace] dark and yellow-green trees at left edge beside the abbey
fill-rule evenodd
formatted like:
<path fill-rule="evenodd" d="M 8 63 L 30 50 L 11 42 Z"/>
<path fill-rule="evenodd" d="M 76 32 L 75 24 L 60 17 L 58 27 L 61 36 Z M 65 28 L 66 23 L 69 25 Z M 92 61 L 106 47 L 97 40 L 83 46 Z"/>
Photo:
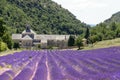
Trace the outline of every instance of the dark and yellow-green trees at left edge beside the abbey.
<path fill-rule="evenodd" d="M 12 49 L 12 39 L 9 33 L 9 29 L 5 25 L 5 22 L 0 18 L 0 52 L 5 51 L 8 48 Z"/>

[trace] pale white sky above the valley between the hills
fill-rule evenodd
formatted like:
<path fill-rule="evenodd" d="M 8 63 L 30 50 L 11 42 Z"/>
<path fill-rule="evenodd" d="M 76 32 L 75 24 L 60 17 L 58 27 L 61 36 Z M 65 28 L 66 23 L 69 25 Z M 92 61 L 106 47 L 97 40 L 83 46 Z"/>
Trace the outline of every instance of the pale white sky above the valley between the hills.
<path fill-rule="evenodd" d="M 120 0 L 53 0 L 87 24 L 98 24 L 120 11 Z"/>

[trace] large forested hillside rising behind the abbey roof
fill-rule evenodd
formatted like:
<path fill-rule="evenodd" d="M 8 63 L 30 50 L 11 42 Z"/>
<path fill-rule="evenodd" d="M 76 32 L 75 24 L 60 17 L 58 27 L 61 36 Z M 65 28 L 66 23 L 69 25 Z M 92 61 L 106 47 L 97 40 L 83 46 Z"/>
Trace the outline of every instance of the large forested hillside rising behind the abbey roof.
<path fill-rule="evenodd" d="M 83 34 L 85 23 L 51 0 L 0 0 L 0 16 L 11 33 L 26 25 L 39 34 Z"/>

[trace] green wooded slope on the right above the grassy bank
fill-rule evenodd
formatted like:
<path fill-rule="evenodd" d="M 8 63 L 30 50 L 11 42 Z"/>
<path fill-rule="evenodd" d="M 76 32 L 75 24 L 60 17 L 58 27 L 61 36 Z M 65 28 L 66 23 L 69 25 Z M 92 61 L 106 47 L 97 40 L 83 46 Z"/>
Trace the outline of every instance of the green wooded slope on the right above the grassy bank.
<path fill-rule="evenodd" d="M 112 15 L 111 18 L 97 24 L 90 30 L 90 41 L 109 40 L 120 37 L 120 12 Z"/>

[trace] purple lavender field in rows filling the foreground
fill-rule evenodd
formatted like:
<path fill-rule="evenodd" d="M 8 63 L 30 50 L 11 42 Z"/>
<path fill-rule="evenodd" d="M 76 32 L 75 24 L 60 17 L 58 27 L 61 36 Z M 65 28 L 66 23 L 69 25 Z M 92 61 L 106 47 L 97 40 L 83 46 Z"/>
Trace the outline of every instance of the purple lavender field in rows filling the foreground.
<path fill-rule="evenodd" d="M 120 47 L 1 56 L 0 80 L 120 80 Z"/>

